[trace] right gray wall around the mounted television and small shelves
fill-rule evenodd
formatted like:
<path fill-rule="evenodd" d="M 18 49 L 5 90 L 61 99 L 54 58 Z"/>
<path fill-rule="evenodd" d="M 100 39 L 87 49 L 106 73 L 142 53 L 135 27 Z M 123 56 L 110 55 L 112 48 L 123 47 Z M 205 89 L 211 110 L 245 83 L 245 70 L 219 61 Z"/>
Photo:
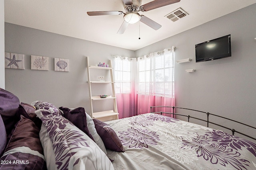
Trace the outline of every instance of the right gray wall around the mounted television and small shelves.
<path fill-rule="evenodd" d="M 175 61 L 192 59 L 189 63 L 175 62 L 176 106 L 208 111 L 256 126 L 255 16 L 256 4 L 253 4 L 139 49 L 136 57 L 176 46 Z M 228 34 L 231 34 L 232 57 L 195 62 L 196 44 Z M 196 71 L 189 73 L 186 69 Z"/>

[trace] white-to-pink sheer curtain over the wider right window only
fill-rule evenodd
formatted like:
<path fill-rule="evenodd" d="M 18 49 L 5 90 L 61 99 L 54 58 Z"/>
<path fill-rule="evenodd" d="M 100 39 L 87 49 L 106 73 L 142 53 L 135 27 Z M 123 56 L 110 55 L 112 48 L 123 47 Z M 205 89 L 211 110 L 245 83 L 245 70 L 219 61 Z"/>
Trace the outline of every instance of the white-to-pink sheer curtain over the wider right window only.
<path fill-rule="evenodd" d="M 150 106 L 175 106 L 174 49 L 138 58 L 138 114 L 149 113 Z M 153 111 L 172 113 L 172 108 Z"/>

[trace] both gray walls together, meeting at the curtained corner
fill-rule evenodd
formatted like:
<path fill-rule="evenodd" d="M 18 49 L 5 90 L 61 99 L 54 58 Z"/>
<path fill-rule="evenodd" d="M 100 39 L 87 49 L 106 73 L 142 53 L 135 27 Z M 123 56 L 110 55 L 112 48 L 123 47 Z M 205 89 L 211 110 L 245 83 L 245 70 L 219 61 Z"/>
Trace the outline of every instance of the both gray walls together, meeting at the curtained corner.
<path fill-rule="evenodd" d="M 256 126 L 255 16 L 253 4 L 137 51 L 6 23 L 5 51 L 25 54 L 25 70 L 5 70 L 6 90 L 22 102 L 45 100 L 56 106 L 89 108 L 85 56 L 94 65 L 107 62 L 112 55 L 140 57 L 174 45 L 175 60 L 192 59 L 190 63 L 175 62 L 176 106 Z M 227 34 L 231 34 L 232 57 L 195 63 L 195 44 Z M 30 55 L 49 57 L 50 70 L 30 70 Z M 55 72 L 54 57 L 70 59 L 70 72 Z M 186 69 L 196 72 L 188 73 Z M 98 74 L 94 73 L 94 77 Z"/>

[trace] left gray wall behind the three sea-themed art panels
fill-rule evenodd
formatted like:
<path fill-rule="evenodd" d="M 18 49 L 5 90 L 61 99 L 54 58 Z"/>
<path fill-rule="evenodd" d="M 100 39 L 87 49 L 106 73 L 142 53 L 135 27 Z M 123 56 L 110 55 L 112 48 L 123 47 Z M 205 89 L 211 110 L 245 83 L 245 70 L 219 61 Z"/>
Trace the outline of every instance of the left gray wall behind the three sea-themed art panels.
<path fill-rule="evenodd" d="M 86 56 L 90 65 L 108 63 L 113 55 L 134 57 L 131 50 L 11 23 L 5 23 L 5 51 L 25 55 L 24 70 L 5 69 L 6 90 L 18 96 L 20 102 L 43 100 L 57 107 L 85 107 L 88 112 Z M 49 70 L 31 70 L 31 55 L 49 57 Z M 69 59 L 70 71 L 54 71 L 54 58 Z M 93 78 L 101 74 L 92 71 Z M 104 93 L 104 88 L 97 86 L 95 91 Z"/>

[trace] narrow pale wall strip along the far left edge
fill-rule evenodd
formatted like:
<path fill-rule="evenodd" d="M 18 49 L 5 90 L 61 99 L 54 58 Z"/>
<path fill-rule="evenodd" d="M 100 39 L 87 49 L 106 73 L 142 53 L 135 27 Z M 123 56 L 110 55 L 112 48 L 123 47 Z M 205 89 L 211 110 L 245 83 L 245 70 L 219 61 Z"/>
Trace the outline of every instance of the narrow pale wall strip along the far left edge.
<path fill-rule="evenodd" d="M 0 0 L 0 88 L 3 89 L 4 79 L 4 0 Z"/>

